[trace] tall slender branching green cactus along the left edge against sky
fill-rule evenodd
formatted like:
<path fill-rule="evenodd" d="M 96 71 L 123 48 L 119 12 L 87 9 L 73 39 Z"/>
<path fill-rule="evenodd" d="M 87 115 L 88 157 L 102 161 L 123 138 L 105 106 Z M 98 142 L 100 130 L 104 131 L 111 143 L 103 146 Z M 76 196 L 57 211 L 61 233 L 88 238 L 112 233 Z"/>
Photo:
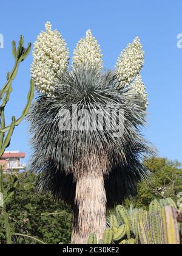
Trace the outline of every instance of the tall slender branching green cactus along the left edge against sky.
<path fill-rule="evenodd" d="M 7 81 L 5 82 L 4 86 L 2 86 L 0 90 L 0 158 L 4 154 L 4 151 L 6 148 L 8 148 L 10 144 L 10 140 L 13 135 L 13 131 L 15 129 L 15 126 L 18 126 L 22 119 L 27 115 L 29 112 L 30 104 L 32 102 L 33 96 L 34 96 L 34 84 L 33 80 L 30 80 L 30 90 L 29 94 L 27 96 L 27 104 L 24 107 L 24 110 L 22 111 L 21 116 L 16 119 L 15 116 L 12 117 L 12 123 L 9 126 L 5 126 L 5 106 L 7 105 L 7 102 L 10 99 L 10 94 L 13 91 L 12 82 L 16 78 L 16 75 L 18 73 L 19 64 L 24 61 L 24 59 L 29 55 L 30 49 L 31 49 L 31 43 L 28 44 L 27 48 L 24 48 L 24 38 L 21 35 L 18 48 L 16 49 L 16 43 L 15 41 L 12 42 L 12 54 L 15 58 L 15 65 L 13 66 L 13 69 L 11 72 L 7 73 Z M 1 168 L 1 179 L 0 179 L 0 192 L 4 194 L 3 189 L 3 171 L 2 166 Z M 7 199 L 8 194 L 5 196 L 5 199 Z M 4 216 L 4 222 L 5 222 L 5 230 L 6 230 L 6 236 L 7 236 L 7 243 L 12 243 L 12 235 L 10 232 L 10 226 L 8 223 L 8 215 L 6 212 L 6 200 L 4 199 L 3 205 L 2 205 L 2 215 Z"/>

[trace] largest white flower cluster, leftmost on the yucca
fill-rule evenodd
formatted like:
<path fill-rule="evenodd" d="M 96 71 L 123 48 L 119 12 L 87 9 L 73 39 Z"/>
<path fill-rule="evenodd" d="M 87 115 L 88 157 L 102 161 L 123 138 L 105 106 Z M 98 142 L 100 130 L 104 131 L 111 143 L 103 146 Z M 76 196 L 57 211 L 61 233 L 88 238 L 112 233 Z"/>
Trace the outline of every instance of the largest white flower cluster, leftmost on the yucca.
<path fill-rule="evenodd" d="M 39 34 L 34 43 L 32 78 L 36 89 L 51 97 L 54 93 L 56 76 L 64 72 L 69 65 L 69 50 L 58 30 L 52 31 L 52 25 L 45 24 L 46 32 Z"/>

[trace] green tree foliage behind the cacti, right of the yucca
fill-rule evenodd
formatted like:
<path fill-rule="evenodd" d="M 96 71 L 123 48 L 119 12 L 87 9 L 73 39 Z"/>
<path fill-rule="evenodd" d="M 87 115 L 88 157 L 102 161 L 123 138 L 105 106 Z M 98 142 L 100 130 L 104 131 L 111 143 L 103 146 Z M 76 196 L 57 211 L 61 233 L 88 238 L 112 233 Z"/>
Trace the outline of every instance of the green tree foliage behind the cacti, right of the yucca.
<path fill-rule="evenodd" d="M 154 199 L 160 200 L 171 197 L 178 201 L 178 193 L 182 192 L 182 169 L 177 160 L 167 158 L 149 157 L 144 159 L 144 165 L 150 171 L 149 180 L 140 182 L 137 196 L 124 202 L 126 207 L 130 204 L 147 209 Z"/>

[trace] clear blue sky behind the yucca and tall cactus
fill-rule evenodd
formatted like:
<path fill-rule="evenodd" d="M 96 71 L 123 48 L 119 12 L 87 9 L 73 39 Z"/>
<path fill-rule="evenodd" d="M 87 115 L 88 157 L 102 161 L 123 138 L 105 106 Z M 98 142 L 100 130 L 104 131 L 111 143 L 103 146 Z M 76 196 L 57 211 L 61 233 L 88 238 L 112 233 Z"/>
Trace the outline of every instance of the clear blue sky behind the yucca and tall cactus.
<path fill-rule="evenodd" d="M 159 155 L 182 162 L 182 49 L 177 48 L 177 35 L 182 33 L 181 0 L 7 0 L 0 8 L 0 34 L 4 35 L 1 84 L 13 65 L 11 41 L 17 41 L 20 34 L 25 43 L 35 41 L 47 20 L 66 39 L 71 54 L 76 42 L 91 29 L 101 44 L 106 68 L 113 68 L 121 50 L 138 35 L 146 51 L 142 74 L 150 103 L 144 135 Z M 8 120 L 12 115 L 18 117 L 25 105 L 31 62 L 32 55 L 19 69 L 6 112 Z M 24 121 L 16 128 L 8 150 L 25 151 L 28 159 L 29 139 L 29 124 Z"/>

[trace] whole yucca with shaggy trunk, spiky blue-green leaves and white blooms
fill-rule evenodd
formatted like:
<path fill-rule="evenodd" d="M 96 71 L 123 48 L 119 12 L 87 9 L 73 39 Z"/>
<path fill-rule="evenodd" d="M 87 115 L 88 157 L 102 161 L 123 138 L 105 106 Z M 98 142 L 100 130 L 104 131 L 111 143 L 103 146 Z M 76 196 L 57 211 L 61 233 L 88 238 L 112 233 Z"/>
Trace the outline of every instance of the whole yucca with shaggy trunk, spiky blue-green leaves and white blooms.
<path fill-rule="evenodd" d="M 101 50 L 90 30 L 73 53 L 45 24 L 33 52 L 32 77 L 39 96 L 29 115 L 39 187 L 73 208 L 72 243 L 103 237 L 106 207 L 135 194 L 147 175 L 151 152 L 140 134 L 147 94 L 139 76 L 144 52 L 139 38 L 127 46 L 113 71 L 103 71 Z"/>

